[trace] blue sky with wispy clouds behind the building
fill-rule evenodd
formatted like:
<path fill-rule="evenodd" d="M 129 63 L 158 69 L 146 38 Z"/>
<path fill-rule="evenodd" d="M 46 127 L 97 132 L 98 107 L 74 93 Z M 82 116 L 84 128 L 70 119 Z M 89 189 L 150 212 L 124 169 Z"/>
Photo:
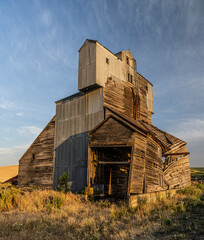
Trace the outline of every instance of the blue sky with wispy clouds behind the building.
<path fill-rule="evenodd" d="M 0 166 L 18 164 L 55 101 L 77 92 L 87 38 L 131 50 L 154 85 L 154 125 L 204 166 L 203 13 L 203 0 L 0 1 Z"/>

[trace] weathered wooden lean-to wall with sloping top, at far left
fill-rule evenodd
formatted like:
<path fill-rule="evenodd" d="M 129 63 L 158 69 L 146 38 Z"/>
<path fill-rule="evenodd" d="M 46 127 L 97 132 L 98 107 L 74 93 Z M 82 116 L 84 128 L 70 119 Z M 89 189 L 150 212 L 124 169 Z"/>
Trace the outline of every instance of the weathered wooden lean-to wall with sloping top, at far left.
<path fill-rule="evenodd" d="M 20 186 L 53 186 L 53 149 L 55 117 L 48 123 L 19 160 Z"/>

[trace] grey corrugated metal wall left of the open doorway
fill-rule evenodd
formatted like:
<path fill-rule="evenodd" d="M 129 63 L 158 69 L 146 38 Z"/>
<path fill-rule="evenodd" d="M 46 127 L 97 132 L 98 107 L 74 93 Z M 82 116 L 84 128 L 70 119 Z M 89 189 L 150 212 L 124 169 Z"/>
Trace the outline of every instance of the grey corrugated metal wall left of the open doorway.
<path fill-rule="evenodd" d="M 71 190 L 87 183 L 88 132 L 103 120 L 103 89 L 56 104 L 54 187 L 65 171 Z"/>

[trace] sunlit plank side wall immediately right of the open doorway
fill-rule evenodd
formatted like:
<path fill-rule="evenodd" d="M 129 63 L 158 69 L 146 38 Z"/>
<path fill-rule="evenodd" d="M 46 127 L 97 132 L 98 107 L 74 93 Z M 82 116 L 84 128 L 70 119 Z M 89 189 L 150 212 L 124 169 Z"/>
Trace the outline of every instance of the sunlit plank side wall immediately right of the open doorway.
<path fill-rule="evenodd" d="M 134 133 L 130 194 L 163 190 L 161 147 L 151 137 Z"/>

